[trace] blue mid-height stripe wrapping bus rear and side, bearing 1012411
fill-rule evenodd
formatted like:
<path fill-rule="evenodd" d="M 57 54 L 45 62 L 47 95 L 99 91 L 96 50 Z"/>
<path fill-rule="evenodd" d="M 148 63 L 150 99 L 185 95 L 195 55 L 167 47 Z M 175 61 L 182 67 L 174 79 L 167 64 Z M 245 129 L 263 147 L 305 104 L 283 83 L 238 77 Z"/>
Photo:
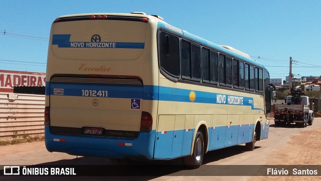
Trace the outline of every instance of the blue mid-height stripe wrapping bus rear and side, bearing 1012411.
<path fill-rule="evenodd" d="M 50 88 L 49 88 L 50 87 Z M 48 90 L 49 89 L 49 90 Z M 55 95 L 54 89 L 63 89 L 63 95 Z M 190 100 L 191 90 L 179 89 L 164 86 L 123 86 L 123 85 L 95 85 L 95 84 L 64 84 L 64 83 L 46 83 L 46 95 L 55 96 L 83 96 L 82 90 L 108 91 L 108 98 L 135 98 L 144 100 L 192 102 Z M 225 104 L 250 106 L 252 110 L 262 110 L 254 107 L 253 97 L 235 96 L 229 94 L 218 94 L 212 92 L 193 91 L 196 98 L 195 103 L 207 104 Z M 96 96 L 93 96 L 96 97 Z M 242 101 L 229 101 L 230 97 L 242 98 Z M 218 100 L 221 99 L 221 100 Z"/>

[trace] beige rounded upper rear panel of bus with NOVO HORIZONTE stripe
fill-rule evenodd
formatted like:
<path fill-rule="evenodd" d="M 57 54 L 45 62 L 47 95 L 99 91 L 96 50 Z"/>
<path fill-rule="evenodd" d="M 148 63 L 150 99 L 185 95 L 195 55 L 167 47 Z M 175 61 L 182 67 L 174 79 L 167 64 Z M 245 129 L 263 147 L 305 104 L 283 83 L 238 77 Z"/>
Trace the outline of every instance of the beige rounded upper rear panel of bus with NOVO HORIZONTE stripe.
<path fill-rule="evenodd" d="M 135 60 L 145 48 L 146 26 L 133 21 L 55 23 L 52 53 L 59 59 Z"/>

